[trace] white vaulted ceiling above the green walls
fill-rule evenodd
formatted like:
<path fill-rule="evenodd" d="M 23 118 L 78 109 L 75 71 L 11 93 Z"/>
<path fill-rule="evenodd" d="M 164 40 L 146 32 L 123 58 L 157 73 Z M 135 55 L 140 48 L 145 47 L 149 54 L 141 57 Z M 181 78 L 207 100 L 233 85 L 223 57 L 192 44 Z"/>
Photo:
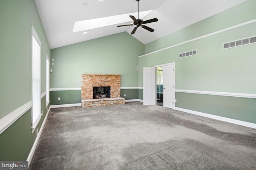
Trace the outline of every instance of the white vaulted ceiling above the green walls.
<path fill-rule="evenodd" d="M 140 19 L 145 21 L 158 18 L 158 21 L 145 24 L 153 28 L 154 32 L 140 27 L 131 36 L 147 44 L 244 1 L 246 0 L 140 0 L 140 12 L 153 10 Z M 117 25 L 130 24 L 132 19 L 129 18 L 129 14 L 134 12 L 135 14 L 132 15 L 138 19 L 136 0 L 35 0 L 35 2 L 51 49 L 124 31 L 131 33 L 135 26 L 117 27 Z M 127 17 L 119 21 L 119 15 L 122 14 L 126 14 Z M 78 27 L 74 28 L 75 23 L 86 23 L 87 26 L 78 24 L 76 25 Z M 105 26 L 99 23 L 104 23 Z M 87 33 L 82 34 L 85 31 Z"/>

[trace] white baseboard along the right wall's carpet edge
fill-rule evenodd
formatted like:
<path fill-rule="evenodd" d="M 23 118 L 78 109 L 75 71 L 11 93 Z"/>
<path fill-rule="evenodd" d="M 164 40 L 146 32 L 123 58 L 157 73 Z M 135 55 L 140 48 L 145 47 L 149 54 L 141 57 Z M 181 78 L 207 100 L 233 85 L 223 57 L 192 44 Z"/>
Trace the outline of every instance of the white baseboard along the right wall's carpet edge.
<path fill-rule="evenodd" d="M 191 114 L 194 114 L 194 115 L 208 117 L 208 118 L 211 118 L 211 119 L 216 119 L 216 120 L 225 121 L 225 122 L 228 122 L 228 123 L 233 123 L 233 124 L 236 124 L 236 125 L 241 125 L 241 126 L 246 126 L 246 127 L 251 127 L 251 128 L 256 129 L 256 124 L 255 123 L 250 123 L 250 122 L 246 122 L 246 121 L 240 121 L 240 120 L 236 120 L 236 119 L 230 119 L 230 118 L 226 118 L 226 117 L 211 115 L 211 114 L 202 113 L 202 112 L 199 112 L 199 111 L 183 109 L 183 108 L 180 108 L 180 107 L 174 107 L 174 110 L 184 111 L 186 113 L 191 113 Z"/>

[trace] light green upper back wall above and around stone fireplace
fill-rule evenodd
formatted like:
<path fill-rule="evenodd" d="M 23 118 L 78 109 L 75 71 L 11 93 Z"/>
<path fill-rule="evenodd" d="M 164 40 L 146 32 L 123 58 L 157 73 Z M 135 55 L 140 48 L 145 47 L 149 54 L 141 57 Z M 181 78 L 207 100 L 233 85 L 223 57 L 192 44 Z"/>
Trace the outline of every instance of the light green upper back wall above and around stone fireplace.
<path fill-rule="evenodd" d="M 80 88 L 82 73 L 122 74 L 121 87 L 138 87 L 144 44 L 123 32 L 51 50 L 51 88 Z"/>

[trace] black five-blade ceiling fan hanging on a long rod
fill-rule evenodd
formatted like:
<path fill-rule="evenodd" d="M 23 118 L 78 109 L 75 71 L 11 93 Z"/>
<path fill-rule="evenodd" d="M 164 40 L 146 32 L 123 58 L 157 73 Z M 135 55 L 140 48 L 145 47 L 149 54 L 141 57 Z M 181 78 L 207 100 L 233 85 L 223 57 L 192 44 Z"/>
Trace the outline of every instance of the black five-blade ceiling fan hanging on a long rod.
<path fill-rule="evenodd" d="M 142 24 L 145 24 L 145 23 L 151 23 L 151 22 L 156 22 L 158 21 L 157 18 L 153 18 L 153 19 L 150 19 L 150 20 L 146 20 L 146 21 L 143 21 L 143 20 L 140 20 L 139 19 L 139 1 L 140 0 L 136 0 L 138 2 L 138 20 L 136 20 L 136 18 L 134 16 L 130 16 L 130 18 L 132 18 L 132 20 L 134 21 L 133 24 L 128 24 L 128 25 L 118 25 L 118 27 L 123 27 L 123 26 L 129 26 L 129 25 L 136 25 L 136 27 L 132 30 L 132 33 L 131 34 L 134 34 L 136 29 L 138 27 L 142 27 L 150 32 L 154 32 L 154 29 L 150 28 L 150 27 L 147 27 L 146 25 L 142 25 Z"/>

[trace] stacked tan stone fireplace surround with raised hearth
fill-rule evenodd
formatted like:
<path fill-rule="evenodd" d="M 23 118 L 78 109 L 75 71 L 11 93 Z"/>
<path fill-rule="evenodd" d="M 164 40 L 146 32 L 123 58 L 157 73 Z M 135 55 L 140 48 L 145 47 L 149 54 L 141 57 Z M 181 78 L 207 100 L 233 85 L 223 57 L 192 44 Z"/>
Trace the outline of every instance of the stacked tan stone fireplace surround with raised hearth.
<path fill-rule="evenodd" d="M 110 98 L 93 99 L 93 87 L 110 86 Z M 125 104 L 121 95 L 120 74 L 82 74 L 82 107 L 110 106 Z"/>

